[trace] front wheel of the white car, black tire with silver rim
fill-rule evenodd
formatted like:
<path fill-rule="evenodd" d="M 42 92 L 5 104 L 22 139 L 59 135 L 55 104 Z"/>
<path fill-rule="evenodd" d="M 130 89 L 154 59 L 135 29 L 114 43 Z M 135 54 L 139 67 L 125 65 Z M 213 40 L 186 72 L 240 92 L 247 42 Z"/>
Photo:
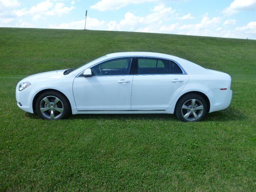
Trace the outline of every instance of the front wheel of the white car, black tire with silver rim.
<path fill-rule="evenodd" d="M 47 91 L 36 99 L 36 112 L 46 120 L 64 119 L 70 114 L 68 99 L 61 93 Z"/>

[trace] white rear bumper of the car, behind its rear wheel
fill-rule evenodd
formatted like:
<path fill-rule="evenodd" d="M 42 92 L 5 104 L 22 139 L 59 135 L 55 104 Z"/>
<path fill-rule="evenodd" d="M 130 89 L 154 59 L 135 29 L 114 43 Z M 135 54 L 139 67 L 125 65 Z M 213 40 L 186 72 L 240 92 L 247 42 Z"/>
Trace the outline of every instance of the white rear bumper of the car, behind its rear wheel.
<path fill-rule="evenodd" d="M 232 99 L 232 90 L 211 89 L 208 92 L 210 96 L 210 112 L 219 111 L 228 108 Z"/>

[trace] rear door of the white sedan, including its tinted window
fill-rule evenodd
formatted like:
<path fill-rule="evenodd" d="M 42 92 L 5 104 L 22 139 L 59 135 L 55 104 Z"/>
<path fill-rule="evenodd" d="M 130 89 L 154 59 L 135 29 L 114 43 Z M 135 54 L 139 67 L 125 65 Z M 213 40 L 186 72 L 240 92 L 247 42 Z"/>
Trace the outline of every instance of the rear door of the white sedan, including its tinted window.
<path fill-rule="evenodd" d="M 136 58 L 131 110 L 166 110 L 188 80 L 188 75 L 171 60 Z"/>

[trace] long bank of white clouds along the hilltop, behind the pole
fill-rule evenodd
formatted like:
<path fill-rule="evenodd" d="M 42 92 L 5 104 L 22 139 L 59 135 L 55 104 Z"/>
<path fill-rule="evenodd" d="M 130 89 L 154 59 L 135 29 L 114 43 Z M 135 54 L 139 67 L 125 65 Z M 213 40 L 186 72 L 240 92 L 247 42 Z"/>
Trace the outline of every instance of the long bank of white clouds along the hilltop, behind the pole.
<path fill-rule="evenodd" d="M 190 15 L 191 16 L 191 15 Z M 180 25 L 177 21 L 175 10 L 170 7 L 156 6 L 152 9 L 152 13 L 146 16 L 137 16 L 132 12 L 127 12 L 124 19 L 119 22 L 112 20 L 110 22 L 100 21 L 96 18 L 88 18 L 86 23 L 87 29 L 92 30 L 117 30 L 117 31 L 136 31 L 136 32 L 152 32 L 152 33 L 171 33 L 171 34 L 186 34 L 197 36 L 217 36 L 231 38 L 246 38 L 244 31 L 247 28 L 253 30 L 252 24 L 241 29 L 233 30 L 222 29 L 222 18 L 209 18 L 205 14 L 201 22 L 196 24 Z M 83 29 L 84 20 L 71 23 L 64 23 L 51 28 L 68 28 L 68 29 Z M 242 31 L 242 32 L 239 32 Z M 250 37 L 250 36 L 249 36 Z"/>

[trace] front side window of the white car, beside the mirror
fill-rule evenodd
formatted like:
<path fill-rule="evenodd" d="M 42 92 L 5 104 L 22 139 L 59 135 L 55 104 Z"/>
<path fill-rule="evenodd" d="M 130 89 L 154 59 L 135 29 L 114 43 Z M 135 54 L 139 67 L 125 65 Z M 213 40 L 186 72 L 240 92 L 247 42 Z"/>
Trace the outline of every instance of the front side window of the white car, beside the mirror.
<path fill-rule="evenodd" d="M 108 60 L 91 68 L 93 76 L 128 75 L 132 58 Z"/>

